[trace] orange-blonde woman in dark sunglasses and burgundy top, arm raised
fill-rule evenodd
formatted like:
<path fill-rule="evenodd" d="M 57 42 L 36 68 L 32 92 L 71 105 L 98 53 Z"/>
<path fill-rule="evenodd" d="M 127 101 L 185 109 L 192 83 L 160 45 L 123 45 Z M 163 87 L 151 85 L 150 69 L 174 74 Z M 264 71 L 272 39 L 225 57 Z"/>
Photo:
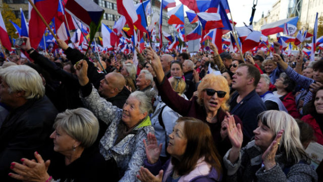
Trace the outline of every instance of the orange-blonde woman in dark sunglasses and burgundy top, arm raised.
<path fill-rule="evenodd" d="M 221 75 L 207 74 L 198 85 L 197 94 L 187 101 L 174 92 L 165 78 L 158 56 L 150 48 L 147 49 L 146 59 L 151 60 L 152 68 L 156 73 L 155 82 L 161 100 L 182 116 L 207 122 L 220 155 L 225 154 L 231 147 L 226 128 L 221 130 L 222 121 L 230 116 L 226 112 L 229 109 L 227 101 L 230 94 L 226 78 Z M 237 116 L 234 118 L 237 123 L 241 123 Z"/>

